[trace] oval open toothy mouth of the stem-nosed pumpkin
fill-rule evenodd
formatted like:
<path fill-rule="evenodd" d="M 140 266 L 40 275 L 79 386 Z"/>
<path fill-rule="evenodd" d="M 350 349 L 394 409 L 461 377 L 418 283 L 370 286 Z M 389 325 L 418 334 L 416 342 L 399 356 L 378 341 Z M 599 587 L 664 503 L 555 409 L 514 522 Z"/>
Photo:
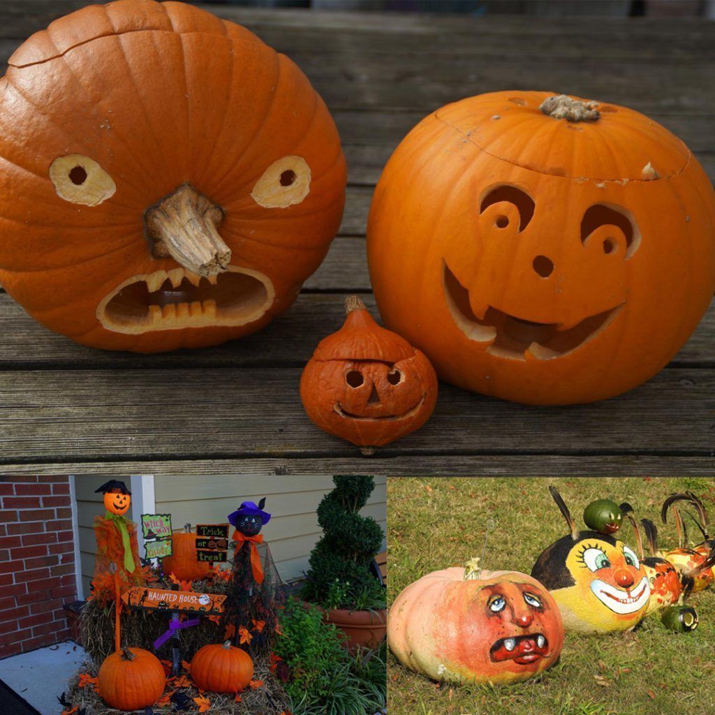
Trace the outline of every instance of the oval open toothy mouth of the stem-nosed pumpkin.
<path fill-rule="evenodd" d="M 240 266 L 202 277 L 184 268 L 134 275 L 97 306 L 97 320 L 114 332 L 245 325 L 272 305 L 275 290 L 262 273 Z"/>

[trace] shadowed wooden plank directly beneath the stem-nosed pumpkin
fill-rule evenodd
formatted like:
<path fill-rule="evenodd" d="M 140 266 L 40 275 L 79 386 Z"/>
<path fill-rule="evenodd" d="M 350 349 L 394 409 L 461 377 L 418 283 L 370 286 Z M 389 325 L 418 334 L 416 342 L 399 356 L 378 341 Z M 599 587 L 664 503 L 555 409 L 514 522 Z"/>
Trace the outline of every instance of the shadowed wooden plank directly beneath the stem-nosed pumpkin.
<path fill-rule="evenodd" d="M 369 290 L 368 284 L 364 290 Z M 373 296 L 361 292 L 361 297 L 377 318 Z M 31 320 L 8 295 L 0 294 L 0 370 L 298 368 L 310 360 L 325 335 L 340 327 L 344 300 L 345 295 L 302 293 L 284 315 L 242 340 L 200 350 L 137 355 L 77 345 Z M 715 301 L 670 367 L 715 368 L 714 340 Z"/>

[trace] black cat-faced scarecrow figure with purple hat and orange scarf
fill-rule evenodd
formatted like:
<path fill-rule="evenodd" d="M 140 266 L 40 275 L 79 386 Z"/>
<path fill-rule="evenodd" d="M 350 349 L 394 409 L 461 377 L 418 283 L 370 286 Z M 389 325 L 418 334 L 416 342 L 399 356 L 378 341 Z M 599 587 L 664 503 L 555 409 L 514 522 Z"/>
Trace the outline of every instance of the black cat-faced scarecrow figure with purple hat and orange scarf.
<path fill-rule="evenodd" d="M 259 503 L 245 501 L 228 516 L 235 527 L 232 535 L 233 593 L 230 596 L 236 626 L 236 645 L 247 646 L 253 655 L 270 648 L 277 626 L 278 576 L 270 550 L 260 533 L 271 515 Z"/>

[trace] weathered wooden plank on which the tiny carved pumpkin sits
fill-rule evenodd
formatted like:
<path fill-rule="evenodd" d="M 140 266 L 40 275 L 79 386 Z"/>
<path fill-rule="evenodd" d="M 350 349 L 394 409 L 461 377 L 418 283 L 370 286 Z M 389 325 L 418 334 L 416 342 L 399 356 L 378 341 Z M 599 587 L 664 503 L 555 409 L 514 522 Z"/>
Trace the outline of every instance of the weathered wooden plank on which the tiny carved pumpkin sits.
<path fill-rule="evenodd" d="M 299 380 L 297 368 L 0 373 L 0 463 L 355 456 L 310 424 Z M 663 370 L 621 397 L 561 409 L 441 385 L 427 425 L 378 455 L 711 456 L 714 430 L 713 370 Z"/>

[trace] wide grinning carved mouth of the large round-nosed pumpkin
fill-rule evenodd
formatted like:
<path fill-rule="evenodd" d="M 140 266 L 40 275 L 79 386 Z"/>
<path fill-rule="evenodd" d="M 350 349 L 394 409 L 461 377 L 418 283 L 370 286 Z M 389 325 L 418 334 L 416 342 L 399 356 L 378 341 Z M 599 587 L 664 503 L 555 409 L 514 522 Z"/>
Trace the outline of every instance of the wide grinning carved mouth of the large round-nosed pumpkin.
<path fill-rule="evenodd" d="M 488 343 L 486 351 L 512 360 L 551 360 L 560 358 L 604 330 L 621 310 L 618 305 L 586 317 L 567 327 L 556 322 L 533 322 L 509 315 L 485 305 L 484 314 L 475 315 L 469 302 L 469 291 L 461 285 L 446 262 L 443 262 L 445 299 L 459 329 L 475 342 Z"/>

